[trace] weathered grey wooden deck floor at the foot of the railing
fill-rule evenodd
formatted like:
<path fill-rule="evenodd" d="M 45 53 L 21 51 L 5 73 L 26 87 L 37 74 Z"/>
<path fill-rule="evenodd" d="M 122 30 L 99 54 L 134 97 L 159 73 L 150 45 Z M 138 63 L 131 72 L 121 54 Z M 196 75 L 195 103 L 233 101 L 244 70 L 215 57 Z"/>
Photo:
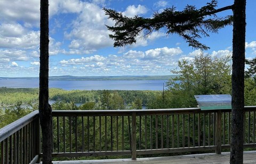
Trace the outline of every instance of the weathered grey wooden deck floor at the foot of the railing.
<path fill-rule="evenodd" d="M 229 163 L 229 152 L 223 152 L 222 154 L 209 153 L 209 154 L 194 154 L 194 155 L 180 155 L 172 157 L 155 157 L 155 158 L 138 158 L 137 160 L 131 159 L 112 159 L 112 160 L 86 160 L 86 161 L 54 161 L 53 163 L 67 164 L 67 163 L 124 163 L 124 164 L 135 164 L 135 163 Z M 256 163 L 256 151 L 244 152 L 244 163 Z"/>

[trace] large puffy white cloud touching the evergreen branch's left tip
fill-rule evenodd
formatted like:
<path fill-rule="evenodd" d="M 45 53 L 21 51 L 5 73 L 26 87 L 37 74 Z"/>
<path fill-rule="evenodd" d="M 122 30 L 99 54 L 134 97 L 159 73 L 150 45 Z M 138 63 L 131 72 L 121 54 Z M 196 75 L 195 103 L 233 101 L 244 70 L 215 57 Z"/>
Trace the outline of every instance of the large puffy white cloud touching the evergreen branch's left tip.
<path fill-rule="evenodd" d="M 82 11 L 72 23 L 73 29 L 65 32 L 65 37 L 71 40 L 69 48 L 91 53 L 99 48 L 112 46 L 114 42 L 109 38 L 110 32 L 105 24 L 113 23 L 107 19 L 101 7 L 84 2 Z"/>

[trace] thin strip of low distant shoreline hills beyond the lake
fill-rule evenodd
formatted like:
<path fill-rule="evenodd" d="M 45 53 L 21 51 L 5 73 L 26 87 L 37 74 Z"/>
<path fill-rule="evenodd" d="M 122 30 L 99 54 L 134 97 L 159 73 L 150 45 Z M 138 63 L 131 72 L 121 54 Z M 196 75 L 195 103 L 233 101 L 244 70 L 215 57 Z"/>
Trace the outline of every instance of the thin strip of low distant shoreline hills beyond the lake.
<path fill-rule="evenodd" d="M 166 76 L 50 76 L 49 80 L 169 80 L 178 75 Z M 39 79 L 38 77 L 0 77 L 2 79 Z"/>

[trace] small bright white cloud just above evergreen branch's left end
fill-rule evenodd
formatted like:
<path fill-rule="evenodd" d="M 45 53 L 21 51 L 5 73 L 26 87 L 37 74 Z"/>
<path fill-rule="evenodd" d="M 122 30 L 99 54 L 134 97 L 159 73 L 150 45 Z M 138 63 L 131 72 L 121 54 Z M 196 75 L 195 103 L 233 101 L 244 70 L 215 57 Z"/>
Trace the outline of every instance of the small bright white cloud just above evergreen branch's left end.
<path fill-rule="evenodd" d="M 138 5 L 135 7 L 135 5 L 130 5 L 126 8 L 126 10 L 123 12 L 123 14 L 126 17 L 134 17 L 135 15 L 145 14 L 147 13 L 147 8 L 142 5 Z"/>

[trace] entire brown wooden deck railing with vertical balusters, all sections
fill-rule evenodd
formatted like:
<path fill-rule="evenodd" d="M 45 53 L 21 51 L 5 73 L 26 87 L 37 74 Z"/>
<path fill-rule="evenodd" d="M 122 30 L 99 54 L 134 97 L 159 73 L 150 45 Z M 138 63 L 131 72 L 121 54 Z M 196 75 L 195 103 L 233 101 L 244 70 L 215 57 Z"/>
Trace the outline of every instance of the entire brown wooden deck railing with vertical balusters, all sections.
<path fill-rule="evenodd" d="M 244 147 L 255 148 L 256 106 L 246 106 Z M 230 110 L 53 111 L 53 158 L 216 152 L 230 147 Z M 2 163 L 35 163 L 38 111 L 0 129 Z M 109 158 L 109 157 L 108 157 Z"/>

